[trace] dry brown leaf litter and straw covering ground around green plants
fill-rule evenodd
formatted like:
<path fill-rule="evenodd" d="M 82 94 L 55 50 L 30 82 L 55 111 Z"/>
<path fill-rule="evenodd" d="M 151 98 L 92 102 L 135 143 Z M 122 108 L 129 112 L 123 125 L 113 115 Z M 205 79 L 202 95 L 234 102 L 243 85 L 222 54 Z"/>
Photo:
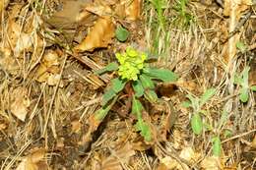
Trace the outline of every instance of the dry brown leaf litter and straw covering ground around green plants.
<path fill-rule="evenodd" d="M 0 0 L 1 170 L 256 169 L 255 10 L 251 0 Z M 163 102 L 145 103 L 152 142 L 125 99 L 92 120 L 116 77 L 95 72 L 128 46 L 179 76 L 157 85 Z M 185 107 L 207 89 L 200 108 Z"/>

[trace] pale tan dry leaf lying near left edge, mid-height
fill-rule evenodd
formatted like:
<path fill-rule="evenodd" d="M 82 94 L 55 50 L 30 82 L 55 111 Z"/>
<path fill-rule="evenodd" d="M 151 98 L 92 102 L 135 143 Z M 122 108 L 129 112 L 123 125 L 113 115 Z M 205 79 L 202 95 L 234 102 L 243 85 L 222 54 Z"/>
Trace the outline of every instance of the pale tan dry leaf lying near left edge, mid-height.
<path fill-rule="evenodd" d="M 31 104 L 28 89 L 25 87 L 17 87 L 11 93 L 11 99 L 11 112 L 21 121 L 25 121 L 28 114 L 28 107 Z"/>

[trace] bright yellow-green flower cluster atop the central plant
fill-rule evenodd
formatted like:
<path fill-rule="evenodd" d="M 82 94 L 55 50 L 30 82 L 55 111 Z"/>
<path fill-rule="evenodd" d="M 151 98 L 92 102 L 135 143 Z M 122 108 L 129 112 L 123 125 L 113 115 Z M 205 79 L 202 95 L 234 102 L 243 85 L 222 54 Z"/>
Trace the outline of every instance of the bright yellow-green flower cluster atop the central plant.
<path fill-rule="evenodd" d="M 144 67 L 144 61 L 147 59 L 147 55 L 145 53 L 139 53 L 132 47 L 127 47 L 125 53 L 116 53 L 116 58 L 120 63 L 118 75 L 122 79 L 136 81 L 138 79 L 137 75 L 140 74 L 140 71 Z"/>

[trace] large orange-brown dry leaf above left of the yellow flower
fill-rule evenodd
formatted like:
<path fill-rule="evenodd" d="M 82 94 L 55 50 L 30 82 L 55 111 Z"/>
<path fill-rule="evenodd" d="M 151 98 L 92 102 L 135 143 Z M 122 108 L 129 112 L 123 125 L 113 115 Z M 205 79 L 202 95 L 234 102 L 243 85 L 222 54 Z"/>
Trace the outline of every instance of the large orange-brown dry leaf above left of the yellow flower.
<path fill-rule="evenodd" d="M 114 25 L 109 17 L 98 18 L 86 38 L 75 47 L 75 51 L 93 52 L 96 48 L 107 47 L 114 36 Z"/>

